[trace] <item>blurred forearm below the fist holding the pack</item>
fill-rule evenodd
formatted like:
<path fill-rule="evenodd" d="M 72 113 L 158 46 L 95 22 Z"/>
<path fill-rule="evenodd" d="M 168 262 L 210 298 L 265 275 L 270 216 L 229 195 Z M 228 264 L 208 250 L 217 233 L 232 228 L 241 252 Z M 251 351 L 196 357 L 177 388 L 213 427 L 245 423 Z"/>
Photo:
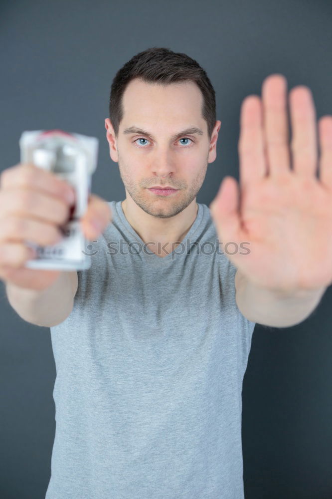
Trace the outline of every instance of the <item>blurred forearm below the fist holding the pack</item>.
<path fill-rule="evenodd" d="M 77 272 L 63 271 L 46 289 L 37 291 L 6 283 L 10 305 L 27 322 L 51 327 L 63 322 L 71 313 L 78 287 Z"/>

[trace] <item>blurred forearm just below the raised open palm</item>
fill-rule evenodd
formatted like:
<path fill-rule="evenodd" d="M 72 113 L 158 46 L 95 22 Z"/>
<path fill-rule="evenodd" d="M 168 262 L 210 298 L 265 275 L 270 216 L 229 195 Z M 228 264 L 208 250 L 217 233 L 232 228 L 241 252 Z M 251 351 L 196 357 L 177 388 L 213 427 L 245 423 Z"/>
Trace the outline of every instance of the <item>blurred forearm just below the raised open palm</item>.
<path fill-rule="evenodd" d="M 326 287 L 296 292 L 274 291 L 252 284 L 239 270 L 235 274 L 236 304 L 247 319 L 272 327 L 289 327 L 309 317 Z"/>

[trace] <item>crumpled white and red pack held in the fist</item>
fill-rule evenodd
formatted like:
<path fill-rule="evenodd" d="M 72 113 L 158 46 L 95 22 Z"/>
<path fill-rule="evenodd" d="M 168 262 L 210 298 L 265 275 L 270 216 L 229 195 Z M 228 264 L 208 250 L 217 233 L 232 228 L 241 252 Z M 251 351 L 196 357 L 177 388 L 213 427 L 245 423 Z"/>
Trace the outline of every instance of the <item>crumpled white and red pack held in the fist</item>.
<path fill-rule="evenodd" d="M 62 130 L 25 131 L 19 139 L 21 163 L 32 163 L 49 170 L 75 190 L 76 204 L 67 224 L 60 229 L 63 239 L 51 246 L 34 248 L 36 256 L 25 262 L 27 268 L 82 270 L 91 266 L 86 255 L 87 240 L 80 228 L 91 192 L 91 177 L 97 167 L 98 139 Z"/>

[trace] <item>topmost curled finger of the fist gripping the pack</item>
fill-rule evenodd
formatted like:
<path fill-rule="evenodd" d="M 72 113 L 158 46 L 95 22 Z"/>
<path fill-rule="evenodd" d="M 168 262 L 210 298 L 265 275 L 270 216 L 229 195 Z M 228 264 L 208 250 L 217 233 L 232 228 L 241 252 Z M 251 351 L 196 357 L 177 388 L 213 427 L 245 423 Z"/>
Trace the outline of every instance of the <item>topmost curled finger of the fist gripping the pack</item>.
<path fill-rule="evenodd" d="M 75 201 L 75 190 L 68 182 L 30 163 L 19 163 L 3 170 L 0 174 L 0 187 L 1 189 L 31 188 L 63 198 L 71 204 Z"/>

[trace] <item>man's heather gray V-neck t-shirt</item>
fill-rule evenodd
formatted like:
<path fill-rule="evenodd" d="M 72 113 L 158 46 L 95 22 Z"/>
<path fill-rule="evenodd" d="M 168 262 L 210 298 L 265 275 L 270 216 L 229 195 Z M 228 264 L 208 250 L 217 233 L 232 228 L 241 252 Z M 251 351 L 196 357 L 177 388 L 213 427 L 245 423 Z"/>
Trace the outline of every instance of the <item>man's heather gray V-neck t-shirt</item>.
<path fill-rule="evenodd" d="M 241 393 L 255 323 L 237 308 L 236 268 L 210 210 L 198 204 L 183 244 L 162 258 L 121 202 L 109 205 L 73 310 L 51 327 L 46 499 L 243 499 Z"/>

